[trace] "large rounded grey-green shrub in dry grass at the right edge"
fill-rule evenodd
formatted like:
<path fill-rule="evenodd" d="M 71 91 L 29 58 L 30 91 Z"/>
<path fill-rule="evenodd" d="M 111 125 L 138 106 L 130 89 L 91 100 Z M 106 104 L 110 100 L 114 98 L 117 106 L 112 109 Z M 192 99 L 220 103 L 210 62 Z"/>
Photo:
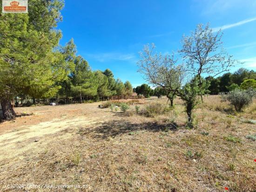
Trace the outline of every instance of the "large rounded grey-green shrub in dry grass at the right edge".
<path fill-rule="evenodd" d="M 255 97 L 256 92 L 253 89 L 239 90 L 235 89 L 227 94 L 222 94 L 222 101 L 229 101 L 231 106 L 234 106 L 237 112 L 241 112 L 242 109 L 252 103 L 252 99 Z"/>

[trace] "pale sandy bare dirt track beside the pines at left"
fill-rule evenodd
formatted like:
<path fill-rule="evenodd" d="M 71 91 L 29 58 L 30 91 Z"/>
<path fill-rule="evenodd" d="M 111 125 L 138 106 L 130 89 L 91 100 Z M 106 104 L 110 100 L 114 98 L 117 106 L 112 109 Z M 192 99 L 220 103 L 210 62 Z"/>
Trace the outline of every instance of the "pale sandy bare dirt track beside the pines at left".
<path fill-rule="evenodd" d="M 107 117 L 106 110 L 97 108 L 97 105 L 17 108 L 18 113 L 26 110 L 34 115 L 0 125 L 0 160 L 15 156 L 22 159 L 28 150 L 38 152 L 38 144 L 43 148 L 42 146 L 50 145 L 53 140 L 72 137 L 81 127 L 86 128 L 104 121 L 104 117 Z"/>

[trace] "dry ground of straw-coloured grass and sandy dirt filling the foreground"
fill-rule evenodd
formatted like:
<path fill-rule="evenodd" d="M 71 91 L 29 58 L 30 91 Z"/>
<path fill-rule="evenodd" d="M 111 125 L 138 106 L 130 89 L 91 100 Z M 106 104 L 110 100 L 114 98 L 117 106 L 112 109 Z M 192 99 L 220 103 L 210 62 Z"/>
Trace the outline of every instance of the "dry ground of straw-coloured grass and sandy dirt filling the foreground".
<path fill-rule="evenodd" d="M 102 102 L 15 108 L 33 115 L 0 124 L 0 191 L 256 192 L 256 141 L 246 138 L 256 125 L 244 121 L 256 105 L 227 113 L 216 97 L 195 110 L 193 130 L 179 99 L 151 118 Z"/>

